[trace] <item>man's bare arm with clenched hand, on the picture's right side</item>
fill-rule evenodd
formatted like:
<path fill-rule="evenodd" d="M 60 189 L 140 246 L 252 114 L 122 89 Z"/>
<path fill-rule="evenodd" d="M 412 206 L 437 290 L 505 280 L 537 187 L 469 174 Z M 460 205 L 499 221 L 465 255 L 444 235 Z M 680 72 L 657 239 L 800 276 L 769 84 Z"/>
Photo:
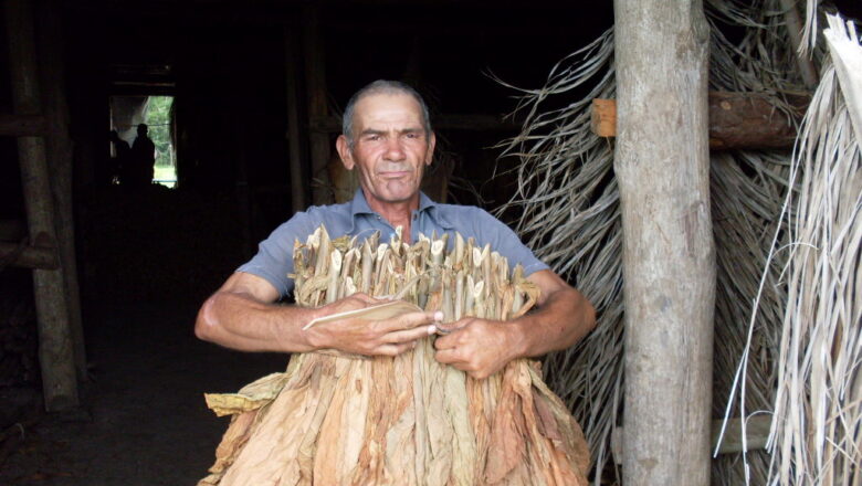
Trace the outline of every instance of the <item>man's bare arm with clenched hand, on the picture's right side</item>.
<path fill-rule="evenodd" d="M 566 349 L 596 327 L 592 305 L 557 274 L 543 270 L 527 279 L 542 289 L 536 310 L 505 323 L 467 317 L 439 325 L 453 330 L 437 339 L 437 360 L 486 378 L 513 359 Z"/>

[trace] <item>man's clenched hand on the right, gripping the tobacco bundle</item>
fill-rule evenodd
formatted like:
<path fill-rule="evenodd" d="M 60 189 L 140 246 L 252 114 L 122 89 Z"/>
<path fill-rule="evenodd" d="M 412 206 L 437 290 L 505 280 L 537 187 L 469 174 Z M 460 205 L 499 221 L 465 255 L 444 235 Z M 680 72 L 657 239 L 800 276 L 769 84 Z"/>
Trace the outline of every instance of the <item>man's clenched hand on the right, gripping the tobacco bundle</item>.
<path fill-rule="evenodd" d="M 498 320 L 467 317 L 456 323 L 439 324 L 451 331 L 437 338 L 435 358 L 476 379 L 487 378 L 518 357 L 522 339 L 518 328 Z"/>

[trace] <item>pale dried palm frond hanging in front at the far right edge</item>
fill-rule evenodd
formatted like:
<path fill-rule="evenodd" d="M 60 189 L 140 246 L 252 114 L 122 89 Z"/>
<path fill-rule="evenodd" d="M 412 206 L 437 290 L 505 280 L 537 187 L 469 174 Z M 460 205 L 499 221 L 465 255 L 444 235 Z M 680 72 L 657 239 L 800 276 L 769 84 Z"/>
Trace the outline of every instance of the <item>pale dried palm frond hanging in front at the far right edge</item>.
<path fill-rule="evenodd" d="M 833 62 L 855 55 L 862 63 L 852 24 L 829 23 Z M 832 49 L 838 43 L 845 49 Z M 800 188 L 786 202 L 792 244 L 770 484 L 862 480 L 862 106 L 848 103 L 860 95 L 859 68 L 841 74 L 828 65 L 793 158 Z"/>

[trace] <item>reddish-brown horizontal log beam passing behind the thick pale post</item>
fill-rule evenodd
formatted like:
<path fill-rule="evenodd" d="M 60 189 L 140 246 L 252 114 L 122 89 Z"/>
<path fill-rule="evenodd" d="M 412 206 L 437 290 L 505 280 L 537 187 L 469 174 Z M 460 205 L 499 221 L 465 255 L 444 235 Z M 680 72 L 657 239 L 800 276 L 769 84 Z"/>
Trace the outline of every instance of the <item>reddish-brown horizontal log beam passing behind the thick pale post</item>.
<path fill-rule="evenodd" d="M 708 99 L 711 149 L 768 150 L 793 148 L 796 127 L 810 98 L 791 97 L 791 116 L 761 94 L 709 92 Z M 616 137 L 617 102 L 593 99 L 590 125 L 600 137 Z"/>

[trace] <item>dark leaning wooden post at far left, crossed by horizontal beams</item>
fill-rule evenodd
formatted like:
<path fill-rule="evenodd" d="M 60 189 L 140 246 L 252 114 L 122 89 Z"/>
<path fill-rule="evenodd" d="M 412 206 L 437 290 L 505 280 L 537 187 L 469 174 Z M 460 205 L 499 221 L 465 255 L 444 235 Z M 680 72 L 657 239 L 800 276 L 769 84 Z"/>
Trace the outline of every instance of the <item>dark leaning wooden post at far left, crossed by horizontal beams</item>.
<path fill-rule="evenodd" d="M 30 8 L 28 0 L 6 2 L 12 97 L 15 113 L 20 115 L 39 115 L 41 109 Z M 56 246 L 45 141 L 41 137 L 20 137 L 18 152 L 30 240 L 33 245 Z M 33 293 L 45 409 L 69 410 L 77 406 L 78 398 L 63 271 L 34 270 Z"/>

